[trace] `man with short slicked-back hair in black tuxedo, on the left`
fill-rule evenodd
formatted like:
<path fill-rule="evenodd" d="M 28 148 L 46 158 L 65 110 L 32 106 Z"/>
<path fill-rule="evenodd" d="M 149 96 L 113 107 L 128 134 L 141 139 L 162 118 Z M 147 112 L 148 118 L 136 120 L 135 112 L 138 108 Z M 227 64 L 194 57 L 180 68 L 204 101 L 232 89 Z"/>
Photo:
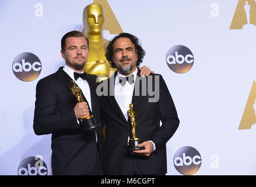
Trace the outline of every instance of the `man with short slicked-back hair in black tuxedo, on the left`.
<path fill-rule="evenodd" d="M 37 83 L 33 128 L 37 135 L 52 133 L 53 175 L 103 174 L 103 133 L 100 101 L 95 94 L 96 76 L 83 73 L 88 58 L 88 39 L 72 31 L 62 38 L 66 64 Z M 85 102 L 71 93 L 76 81 Z M 78 119 L 92 113 L 101 126 L 84 131 Z"/>

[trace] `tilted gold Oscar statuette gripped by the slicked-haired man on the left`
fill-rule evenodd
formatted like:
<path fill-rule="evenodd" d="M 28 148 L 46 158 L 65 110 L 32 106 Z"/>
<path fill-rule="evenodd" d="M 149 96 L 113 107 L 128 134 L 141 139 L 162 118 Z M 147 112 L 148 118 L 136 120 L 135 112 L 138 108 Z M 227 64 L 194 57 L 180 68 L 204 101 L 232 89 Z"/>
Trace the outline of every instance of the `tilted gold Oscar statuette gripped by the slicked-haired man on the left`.
<path fill-rule="evenodd" d="M 71 92 L 76 97 L 77 102 L 78 103 L 84 102 L 83 96 L 81 95 L 82 94 L 81 89 L 78 86 L 76 86 L 76 82 L 71 81 L 70 83 L 71 83 Z M 78 120 L 79 120 L 81 129 L 83 129 L 84 131 L 100 126 L 100 124 L 95 122 L 95 119 L 91 114 L 91 112 L 90 112 L 90 115 Z"/>

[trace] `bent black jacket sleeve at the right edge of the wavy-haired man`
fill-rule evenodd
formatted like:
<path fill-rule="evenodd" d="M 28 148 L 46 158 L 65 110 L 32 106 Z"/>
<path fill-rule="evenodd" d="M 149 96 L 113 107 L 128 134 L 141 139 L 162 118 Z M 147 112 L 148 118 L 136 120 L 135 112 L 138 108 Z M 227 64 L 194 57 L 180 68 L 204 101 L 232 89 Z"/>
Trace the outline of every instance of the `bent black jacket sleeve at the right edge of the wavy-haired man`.
<path fill-rule="evenodd" d="M 162 122 L 162 126 L 156 131 L 151 140 L 155 143 L 156 152 L 161 149 L 167 141 L 173 136 L 179 126 L 179 118 L 176 112 L 175 105 L 172 100 L 172 96 L 162 78 L 159 75 L 159 117 Z"/>

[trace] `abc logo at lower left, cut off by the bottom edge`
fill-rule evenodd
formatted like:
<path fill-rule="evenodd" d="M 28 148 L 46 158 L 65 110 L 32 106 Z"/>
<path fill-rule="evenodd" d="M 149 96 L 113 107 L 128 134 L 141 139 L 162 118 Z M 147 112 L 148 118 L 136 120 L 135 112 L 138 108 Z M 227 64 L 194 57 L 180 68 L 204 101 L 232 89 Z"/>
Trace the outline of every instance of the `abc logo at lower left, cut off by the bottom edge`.
<path fill-rule="evenodd" d="M 45 162 L 37 157 L 25 158 L 18 168 L 18 175 L 47 175 L 47 173 Z"/>

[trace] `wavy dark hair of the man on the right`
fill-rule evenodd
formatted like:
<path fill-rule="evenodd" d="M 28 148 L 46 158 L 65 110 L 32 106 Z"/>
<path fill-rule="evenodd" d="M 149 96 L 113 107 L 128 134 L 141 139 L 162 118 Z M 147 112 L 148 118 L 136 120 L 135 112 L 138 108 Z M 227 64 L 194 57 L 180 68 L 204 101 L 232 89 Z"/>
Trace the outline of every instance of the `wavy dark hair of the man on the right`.
<path fill-rule="evenodd" d="M 112 39 L 109 43 L 108 46 L 105 48 L 105 57 L 107 58 L 107 60 L 110 62 L 110 67 L 112 68 L 116 68 L 115 64 L 112 61 L 112 57 L 113 57 L 113 44 L 115 43 L 115 40 L 120 39 L 121 37 L 127 37 L 128 39 L 130 39 L 132 41 L 132 43 L 135 46 L 135 51 L 136 54 L 138 56 L 138 60 L 136 65 L 139 65 L 142 63 L 142 60 L 146 54 L 146 52 L 144 51 L 144 49 L 142 49 L 141 47 L 141 42 L 139 41 L 139 39 L 129 33 L 121 33 L 118 36 L 115 36 L 114 39 Z"/>

